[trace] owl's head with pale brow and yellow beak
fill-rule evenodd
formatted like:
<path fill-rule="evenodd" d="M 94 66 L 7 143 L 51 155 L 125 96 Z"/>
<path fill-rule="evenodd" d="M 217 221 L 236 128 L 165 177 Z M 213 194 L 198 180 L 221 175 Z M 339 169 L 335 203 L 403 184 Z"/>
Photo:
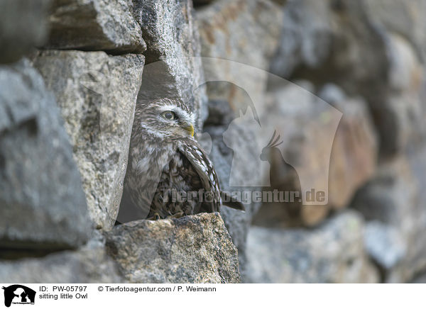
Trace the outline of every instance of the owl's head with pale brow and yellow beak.
<path fill-rule="evenodd" d="M 136 125 L 156 137 L 193 137 L 195 116 L 177 100 L 160 99 L 136 107 Z"/>

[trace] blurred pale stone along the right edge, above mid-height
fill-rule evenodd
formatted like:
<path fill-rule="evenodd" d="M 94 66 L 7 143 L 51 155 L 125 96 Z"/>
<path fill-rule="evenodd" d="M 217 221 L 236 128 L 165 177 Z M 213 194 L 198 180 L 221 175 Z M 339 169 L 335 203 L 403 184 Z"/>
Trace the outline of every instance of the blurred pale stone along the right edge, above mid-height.
<path fill-rule="evenodd" d="M 426 137 L 424 101 L 426 98 L 425 69 L 413 45 L 402 36 L 391 33 L 388 91 L 382 106 L 376 108 L 383 147 L 403 153 L 410 145 Z M 373 110 L 374 111 L 374 110 Z"/>

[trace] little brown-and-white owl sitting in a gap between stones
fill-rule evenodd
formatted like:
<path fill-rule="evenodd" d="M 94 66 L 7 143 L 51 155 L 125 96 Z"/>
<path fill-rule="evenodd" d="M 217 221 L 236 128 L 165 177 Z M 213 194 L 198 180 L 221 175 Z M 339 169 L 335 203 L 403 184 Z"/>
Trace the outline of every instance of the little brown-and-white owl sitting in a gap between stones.
<path fill-rule="evenodd" d="M 136 106 L 124 180 L 133 220 L 211 213 L 222 203 L 244 210 L 220 190 L 212 162 L 194 139 L 194 128 L 194 114 L 178 100 Z"/>

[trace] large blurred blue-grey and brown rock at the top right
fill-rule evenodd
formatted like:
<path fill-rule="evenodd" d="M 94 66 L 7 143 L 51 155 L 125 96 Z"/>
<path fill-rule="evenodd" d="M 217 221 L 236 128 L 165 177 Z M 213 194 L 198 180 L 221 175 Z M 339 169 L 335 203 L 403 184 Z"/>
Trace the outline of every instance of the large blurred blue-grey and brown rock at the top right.
<path fill-rule="evenodd" d="M 375 95 L 386 90 L 388 38 L 364 0 L 290 1 L 285 16 L 275 74 L 335 82 L 350 95 L 379 99 Z"/>

